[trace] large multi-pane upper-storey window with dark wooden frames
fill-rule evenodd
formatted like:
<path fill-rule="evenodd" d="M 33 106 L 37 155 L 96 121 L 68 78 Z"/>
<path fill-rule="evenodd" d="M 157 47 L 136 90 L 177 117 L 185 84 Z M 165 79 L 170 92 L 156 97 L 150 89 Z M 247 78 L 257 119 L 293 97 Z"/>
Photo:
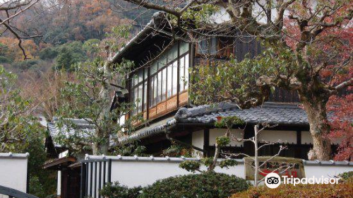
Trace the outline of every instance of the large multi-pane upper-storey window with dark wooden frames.
<path fill-rule="evenodd" d="M 152 64 L 138 69 L 130 80 L 130 101 L 136 104 L 131 115 L 142 112 L 146 118 L 147 111 L 184 93 L 189 86 L 189 58 L 189 44 L 181 42 Z"/>

